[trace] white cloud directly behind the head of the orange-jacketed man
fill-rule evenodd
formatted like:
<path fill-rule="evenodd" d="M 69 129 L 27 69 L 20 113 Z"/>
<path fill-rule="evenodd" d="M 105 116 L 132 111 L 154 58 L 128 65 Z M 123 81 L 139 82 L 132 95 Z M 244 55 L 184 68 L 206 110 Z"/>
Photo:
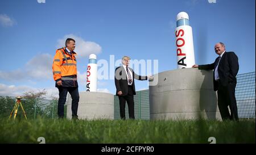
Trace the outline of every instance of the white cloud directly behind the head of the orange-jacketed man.
<path fill-rule="evenodd" d="M 62 39 L 57 40 L 57 48 L 65 46 L 65 41 L 68 37 L 76 40 L 75 52 L 77 53 L 77 58 L 86 57 L 90 54 L 99 54 L 101 53 L 101 46 L 92 41 L 85 41 L 79 36 L 73 34 L 65 35 Z"/>

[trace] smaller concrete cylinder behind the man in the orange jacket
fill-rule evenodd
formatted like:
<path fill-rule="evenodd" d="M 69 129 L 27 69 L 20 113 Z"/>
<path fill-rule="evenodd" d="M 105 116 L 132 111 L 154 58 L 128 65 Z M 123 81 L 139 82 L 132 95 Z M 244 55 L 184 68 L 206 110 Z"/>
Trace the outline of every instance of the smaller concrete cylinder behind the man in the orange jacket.
<path fill-rule="evenodd" d="M 79 93 L 79 119 L 114 119 L 114 95 L 101 92 L 83 91 Z M 72 118 L 71 95 L 67 99 L 67 118 Z"/>

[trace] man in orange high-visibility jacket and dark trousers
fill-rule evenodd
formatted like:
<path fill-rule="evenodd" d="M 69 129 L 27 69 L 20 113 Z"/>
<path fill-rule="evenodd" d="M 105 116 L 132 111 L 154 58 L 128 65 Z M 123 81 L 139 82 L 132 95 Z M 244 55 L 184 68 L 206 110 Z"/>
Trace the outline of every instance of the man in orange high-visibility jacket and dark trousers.
<path fill-rule="evenodd" d="M 79 90 L 77 84 L 76 47 L 75 40 L 68 38 L 65 47 L 57 49 L 53 58 L 52 72 L 56 81 L 55 87 L 59 89 L 58 116 L 64 117 L 64 104 L 67 94 L 72 97 L 72 119 L 78 119 L 77 108 L 79 104 Z"/>

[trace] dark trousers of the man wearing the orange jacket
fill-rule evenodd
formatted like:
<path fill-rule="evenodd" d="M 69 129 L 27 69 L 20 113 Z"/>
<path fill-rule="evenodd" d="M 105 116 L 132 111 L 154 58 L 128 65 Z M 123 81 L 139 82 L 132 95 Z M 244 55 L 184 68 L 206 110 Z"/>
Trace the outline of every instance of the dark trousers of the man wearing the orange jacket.
<path fill-rule="evenodd" d="M 78 87 L 57 87 L 59 89 L 59 102 L 58 102 L 58 116 L 59 118 L 64 117 L 64 104 L 67 99 L 67 94 L 71 94 L 72 98 L 72 118 L 77 118 L 77 108 L 79 104 L 79 90 Z"/>

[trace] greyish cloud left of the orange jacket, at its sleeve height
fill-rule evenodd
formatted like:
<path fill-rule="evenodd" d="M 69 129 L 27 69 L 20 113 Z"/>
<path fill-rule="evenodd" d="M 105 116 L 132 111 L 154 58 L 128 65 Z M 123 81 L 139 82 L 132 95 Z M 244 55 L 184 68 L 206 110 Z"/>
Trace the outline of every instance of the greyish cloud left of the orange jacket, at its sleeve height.
<path fill-rule="evenodd" d="M 7 81 L 50 79 L 52 78 L 52 61 L 53 57 L 47 53 L 37 55 L 31 58 L 23 68 L 10 72 L 0 71 L 0 79 L 5 79 Z"/>

